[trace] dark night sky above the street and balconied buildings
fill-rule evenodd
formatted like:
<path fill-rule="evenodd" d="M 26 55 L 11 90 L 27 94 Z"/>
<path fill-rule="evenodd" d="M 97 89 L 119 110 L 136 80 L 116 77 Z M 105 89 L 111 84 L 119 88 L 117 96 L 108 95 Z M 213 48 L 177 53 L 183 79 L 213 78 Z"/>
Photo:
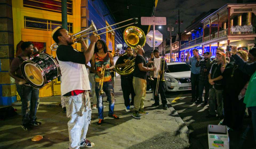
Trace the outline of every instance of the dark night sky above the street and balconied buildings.
<path fill-rule="evenodd" d="M 247 1 L 243 0 L 243 3 Z M 178 20 L 178 9 L 180 10 L 180 20 L 183 20 L 180 32 L 183 32 L 191 24 L 191 21 L 203 12 L 219 9 L 227 3 L 237 3 L 237 0 L 158 0 L 155 16 L 166 17 L 166 26 L 162 26 L 161 29 L 156 26 L 155 30 L 159 30 L 163 34 L 163 40 L 165 40 L 170 36 L 170 32 L 166 31 L 166 28 L 168 24 L 172 24 L 171 26 L 174 27 L 172 36 L 176 36 L 178 24 L 175 24 L 175 20 Z M 151 30 L 153 30 L 152 26 Z M 152 51 L 153 48 L 146 43 L 144 50 Z"/>

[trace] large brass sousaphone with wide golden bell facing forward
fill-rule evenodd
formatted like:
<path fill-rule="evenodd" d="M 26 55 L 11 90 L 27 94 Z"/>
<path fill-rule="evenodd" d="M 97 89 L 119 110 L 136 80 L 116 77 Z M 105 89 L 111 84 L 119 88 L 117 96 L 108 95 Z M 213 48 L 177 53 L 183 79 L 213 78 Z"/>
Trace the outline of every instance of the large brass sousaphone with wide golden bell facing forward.
<path fill-rule="evenodd" d="M 137 45 L 140 45 L 141 47 L 143 47 L 146 43 L 145 33 L 137 26 L 129 26 L 125 28 L 125 31 L 123 32 L 123 39 L 125 40 L 125 43 L 131 48 L 135 48 Z M 137 53 L 137 51 L 135 50 L 134 52 Z M 124 55 L 126 54 L 127 53 L 125 53 Z M 115 71 L 118 74 L 126 76 L 134 72 L 135 56 L 134 54 L 132 54 L 132 56 L 133 56 L 132 59 L 129 60 L 130 61 L 129 64 L 126 65 L 123 70 L 121 70 L 120 68 L 117 67 L 117 65 L 115 65 Z"/>

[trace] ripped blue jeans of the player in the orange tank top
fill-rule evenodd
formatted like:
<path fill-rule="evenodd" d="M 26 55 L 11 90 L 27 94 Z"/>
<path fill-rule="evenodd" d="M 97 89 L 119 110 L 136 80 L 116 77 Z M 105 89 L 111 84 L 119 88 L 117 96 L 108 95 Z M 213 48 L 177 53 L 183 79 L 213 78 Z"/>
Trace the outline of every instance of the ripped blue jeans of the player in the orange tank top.
<path fill-rule="evenodd" d="M 97 104 L 98 104 L 98 114 L 99 119 L 104 119 L 103 115 L 103 94 L 99 94 L 99 82 L 95 83 L 95 93 L 97 97 Z M 114 114 L 114 105 L 115 105 L 115 97 L 114 97 L 114 89 L 113 84 L 111 81 L 103 82 L 103 91 L 106 93 L 107 97 L 111 97 L 109 101 L 109 115 Z"/>

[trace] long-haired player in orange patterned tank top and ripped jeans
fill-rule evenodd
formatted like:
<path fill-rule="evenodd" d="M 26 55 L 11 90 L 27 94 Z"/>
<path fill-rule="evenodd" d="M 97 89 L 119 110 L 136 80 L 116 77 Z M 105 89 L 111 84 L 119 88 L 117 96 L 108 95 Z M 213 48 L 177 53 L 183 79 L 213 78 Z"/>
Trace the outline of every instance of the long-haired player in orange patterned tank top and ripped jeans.
<path fill-rule="evenodd" d="M 95 73 L 95 93 L 97 97 L 97 104 L 98 104 L 98 114 L 99 114 L 99 121 L 97 126 L 101 126 L 104 121 L 103 116 L 103 94 L 100 92 L 101 88 L 106 93 L 107 97 L 109 97 L 109 117 L 114 118 L 116 120 L 119 119 L 117 115 L 114 114 L 114 88 L 111 81 L 110 70 L 114 69 L 114 60 L 111 53 L 107 52 L 107 45 L 102 40 L 98 40 L 95 44 L 94 49 L 95 54 L 91 60 L 91 71 Z M 93 69 L 95 68 L 95 69 Z M 104 71 L 105 73 L 102 76 L 101 72 Z M 103 80 L 102 80 L 103 79 Z M 102 84 L 100 84 L 102 82 Z"/>

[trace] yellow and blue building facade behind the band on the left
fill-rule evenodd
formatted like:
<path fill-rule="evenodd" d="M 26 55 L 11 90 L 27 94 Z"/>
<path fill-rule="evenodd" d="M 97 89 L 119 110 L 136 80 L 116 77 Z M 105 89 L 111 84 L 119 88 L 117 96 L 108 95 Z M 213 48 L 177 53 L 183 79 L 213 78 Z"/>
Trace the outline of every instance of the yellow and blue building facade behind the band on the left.
<path fill-rule="evenodd" d="M 1 3 L 1 32 L 0 36 L 0 105 L 10 105 L 16 101 L 16 86 L 14 79 L 8 74 L 11 60 L 20 52 L 16 45 L 29 41 L 38 49 L 46 47 L 45 53 L 56 56 L 50 46 L 54 44 L 51 32 L 55 27 L 62 25 L 61 0 L 55 1 L 30 1 L 30 0 L 5 0 Z M 67 24 L 70 34 L 77 33 L 90 26 L 94 21 L 97 29 L 115 23 L 111 15 L 107 13 L 107 7 L 102 0 L 67 0 Z M 107 28 L 98 33 L 115 28 Z M 107 43 L 109 51 L 114 51 L 117 44 L 123 43 L 122 33 L 113 31 L 99 36 Z M 89 45 L 89 40 L 86 41 Z M 80 44 L 73 47 L 81 50 Z M 60 95 L 60 77 L 48 83 L 39 90 L 39 97 Z"/>

